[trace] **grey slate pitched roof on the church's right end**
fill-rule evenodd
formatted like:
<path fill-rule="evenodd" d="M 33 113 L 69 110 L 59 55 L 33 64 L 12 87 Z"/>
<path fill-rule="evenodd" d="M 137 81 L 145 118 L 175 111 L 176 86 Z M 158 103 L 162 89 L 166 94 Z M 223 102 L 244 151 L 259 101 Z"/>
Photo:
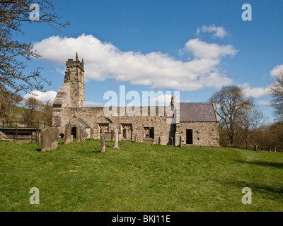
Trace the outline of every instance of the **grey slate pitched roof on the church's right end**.
<path fill-rule="evenodd" d="M 217 121 L 212 103 L 180 102 L 180 121 Z"/>

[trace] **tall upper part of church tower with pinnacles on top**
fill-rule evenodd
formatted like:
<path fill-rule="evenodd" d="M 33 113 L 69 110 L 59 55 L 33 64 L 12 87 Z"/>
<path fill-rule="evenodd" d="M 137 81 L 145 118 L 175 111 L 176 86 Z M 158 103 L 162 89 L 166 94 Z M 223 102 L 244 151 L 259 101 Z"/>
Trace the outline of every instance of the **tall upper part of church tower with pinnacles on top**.
<path fill-rule="evenodd" d="M 84 107 L 83 59 L 79 61 L 76 52 L 76 60 L 68 59 L 66 66 L 64 83 L 70 85 L 69 107 Z"/>

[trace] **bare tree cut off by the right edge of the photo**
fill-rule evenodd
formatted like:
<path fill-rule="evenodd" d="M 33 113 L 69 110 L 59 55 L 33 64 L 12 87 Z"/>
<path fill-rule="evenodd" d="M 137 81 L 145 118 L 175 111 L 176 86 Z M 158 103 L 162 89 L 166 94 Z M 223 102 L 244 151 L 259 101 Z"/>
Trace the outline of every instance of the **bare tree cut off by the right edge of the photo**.
<path fill-rule="evenodd" d="M 283 71 L 278 73 L 275 82 L 270 86 L 270 91 L 273 96 L 271 105 L 275 108 L 275 114 L 283 121 Z"/>

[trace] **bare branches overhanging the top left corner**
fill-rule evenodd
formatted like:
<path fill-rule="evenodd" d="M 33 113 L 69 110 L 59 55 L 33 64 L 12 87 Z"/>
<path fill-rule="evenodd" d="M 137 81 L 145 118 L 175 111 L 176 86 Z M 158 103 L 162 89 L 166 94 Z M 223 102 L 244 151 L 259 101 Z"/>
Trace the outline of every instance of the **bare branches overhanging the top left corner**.
<path fill-rule="evenodd" d="M 39 20 L 30 20 L 30 6 L 40 6 Z M 33 5 L 35 6 L 35 5 Z M 20 90 L 42 90 L 42 82 L 47 78 L 40 75 L 37 68 L 33 73 L 25 74 L 25 61 L 41 57 L 33 50 L 32 43 L 16 40 L 21 25 L 28 23 L 46 23 L 54 28 L 65 28 L 69 23 L 60 23 L 60 17 L 53 13 L 54 5 L 49 0 L 1 0 L 0 2 L 0 90 L 8 95 L 8 90 L 18 93 Z"/>

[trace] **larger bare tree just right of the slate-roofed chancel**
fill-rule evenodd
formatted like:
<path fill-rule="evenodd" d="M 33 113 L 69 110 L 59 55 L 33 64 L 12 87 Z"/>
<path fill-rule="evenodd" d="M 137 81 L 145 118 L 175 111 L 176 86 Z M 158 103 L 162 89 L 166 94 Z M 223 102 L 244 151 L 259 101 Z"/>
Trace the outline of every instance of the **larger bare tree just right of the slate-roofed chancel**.
<path fill-rule="evenodd" d="M 226 128 L 230 144 L 234 143 L 234 136 L 237 129 L 237 120 L 241 109 L 253 106 L 253 99 L 246 97 L 244 91 L 238 86 L 224 86 L 214 93 L 209 99 L 216 104 L 217 113 L 221 124 Z"/>

